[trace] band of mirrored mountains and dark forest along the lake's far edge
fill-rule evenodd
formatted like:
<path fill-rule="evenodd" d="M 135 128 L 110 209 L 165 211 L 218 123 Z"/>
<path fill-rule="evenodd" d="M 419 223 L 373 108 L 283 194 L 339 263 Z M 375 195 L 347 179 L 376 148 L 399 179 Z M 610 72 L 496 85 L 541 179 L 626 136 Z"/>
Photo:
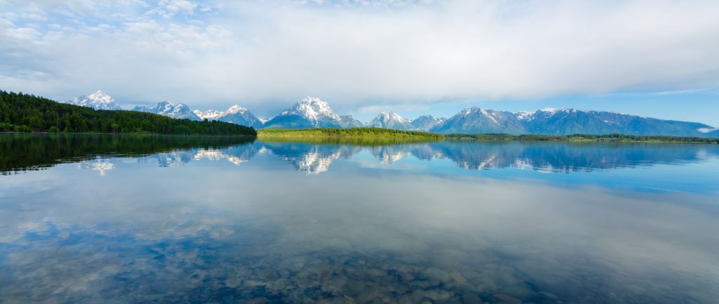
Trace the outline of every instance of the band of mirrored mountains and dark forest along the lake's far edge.
<path fill-rule="evenodd" d="M 61 155 L 59 152 L 45 155 L 43 152 L 47 152 L 52 147 L 48 148 L 34 142 L 7 144 L 12 141 L 5 139 L 0 141 L 3 160 L 0 163 L 0 171 L 17 172 L 42 169 L 62 162 L 92 162 L 96 165 L 90 166 L 99 170 L 98 163 L 108 159 L 108 156 L 147 158 L 147 160 L 140 161 L 157 159 L 161 167 L 181 165 L 203 158 L 224 159 L 239 165 L 249 162 L 257 153 L 270 152 L 296 167 L 298 171 L 306 174 L 318 174 L 329 170 L 332 162 L 339 158 L 351 159 L 359 152 L 368 151 L 381 164 L 391 164 L 412 156 L 418 160 L 452 160 L 457 166 L 468 170 L 517 167 L 546 172 L 590 172 L 596 169 L 702 162 L 719 155 L 719 145 L 716 144 L 429 142 L 365 147 L 345 144 L 247 141 L 247 139 L 212 140 L 211 137 L 209 139 L 198 137 L 205 142 L 193 143 L 192 140 L 196 139 L 187 140 L 182 142 L 184 147 L 178 149 L 179 146 L 173 145 L 172 141 L 167 139 L 172 137 L 160 137 L 167 142 L 165 145 L 153 144 L 154 148 L 147 149 L 145 144 L 152 142 L 155 137 L 147 137 L 144 142 L 134 139 L 132 144 L 127 144 L 123 138 L 133 139 L 134 137 L 125 136 L 113 139 L 113 137 L 108 138 L 103 135 L 90 135 L 89 138 L 82 140 L 83 144 L 87 146 L 81 147 L 73 155 Z M 35 136 L 33 139 L 42 140 L 42 137 Z M 49 142 L 55 141 L 50 140 Z M 218 144 L 218 146 L 208 147 L 209 143 Z M 60 146 L 60 144 L 55 144 Z M 75 147 L 78 143 L 68 141 L 65 144 L 68 147 Z M 124 149 L 134 152 L 117 152 L 117 147 L 124 147 Z M 137 147 L 145 148 L 142 149 L 142 152 L 132 150 Z M 19 160 L 27 163 L 23 164 Z M 104 170 L 111 169 L 112 166 L 104 168 Z"/>

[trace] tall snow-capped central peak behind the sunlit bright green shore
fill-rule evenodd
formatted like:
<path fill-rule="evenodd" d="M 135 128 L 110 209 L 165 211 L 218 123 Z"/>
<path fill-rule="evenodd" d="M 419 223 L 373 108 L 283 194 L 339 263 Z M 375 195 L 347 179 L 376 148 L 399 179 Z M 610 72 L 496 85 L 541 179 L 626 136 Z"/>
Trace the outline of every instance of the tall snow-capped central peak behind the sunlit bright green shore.
<path fill-rule="evenodd" d="M 267 128 L 345 128 L 357 123 L 352 116 L 339 116 L 332 111 L 329 103 L 316 97 L 305 97 L 290 109 L 286 109 L 278 116 L 265 123 Z"/>

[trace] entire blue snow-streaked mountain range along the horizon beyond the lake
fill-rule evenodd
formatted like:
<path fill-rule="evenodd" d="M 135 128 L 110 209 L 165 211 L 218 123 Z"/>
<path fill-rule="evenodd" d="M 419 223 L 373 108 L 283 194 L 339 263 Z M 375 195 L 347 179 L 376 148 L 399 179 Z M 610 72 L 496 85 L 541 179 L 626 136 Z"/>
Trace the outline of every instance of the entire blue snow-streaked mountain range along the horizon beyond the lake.
<path fill-rule="evenodd" d="M 90 106 L 94 109 L 121 109 L 110 96 L 97 91 L 89 96 L 74 98 L 67 103 Z M 277 116 L 263 121 L 247 108 L 231 106 L 226 111 L 214 109 L 192 111 L 183 103 L 162 101 L 155 106 L 136 106 L 133 111 L 145 111 L 178 119 L 219 120 L 262 128 L 303 129 L 316 127 L 352 128 L 374 126 L 388 129 L 418 130 L 436 133 L 506 133 L 506 134 L 632 134 L 669 135 L 682 137 L 719 137 L 719 129 L 690 121 L 653 119 L 608 111 L 576 109 L 542 109 L 533 112 L 508 112 L 479 107 L 467 108 L 449 119 L 423 115 L 406 119 L 393 112 L 383 112 L 362 124 L 350 115 L 341 116 L 329 103 L 316 97 L 303 98 Z"/>

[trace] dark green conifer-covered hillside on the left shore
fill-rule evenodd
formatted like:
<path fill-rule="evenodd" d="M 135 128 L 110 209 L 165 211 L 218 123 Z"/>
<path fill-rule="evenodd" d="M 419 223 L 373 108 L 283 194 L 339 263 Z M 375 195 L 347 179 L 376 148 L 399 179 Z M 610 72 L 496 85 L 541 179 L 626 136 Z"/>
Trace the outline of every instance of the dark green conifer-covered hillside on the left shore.
<path fill-rule="evenodd" d="M 137 111 L 95 110 L 1 90 L 0 132 L 257 136 L 252 127 L 224 121 L 191 121 Z"/>

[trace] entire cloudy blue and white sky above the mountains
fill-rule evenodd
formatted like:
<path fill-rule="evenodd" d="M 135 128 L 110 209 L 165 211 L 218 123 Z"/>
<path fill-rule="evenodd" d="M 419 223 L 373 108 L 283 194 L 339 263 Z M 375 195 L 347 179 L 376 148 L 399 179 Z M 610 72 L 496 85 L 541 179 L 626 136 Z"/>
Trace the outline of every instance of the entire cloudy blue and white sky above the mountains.
<path fill-rule="evenodd" d="M 616 111 L 719 127 L 719 1 L 0 0 L 0 89 L 124 108 L 304 96 L 369 121 Z"/>

